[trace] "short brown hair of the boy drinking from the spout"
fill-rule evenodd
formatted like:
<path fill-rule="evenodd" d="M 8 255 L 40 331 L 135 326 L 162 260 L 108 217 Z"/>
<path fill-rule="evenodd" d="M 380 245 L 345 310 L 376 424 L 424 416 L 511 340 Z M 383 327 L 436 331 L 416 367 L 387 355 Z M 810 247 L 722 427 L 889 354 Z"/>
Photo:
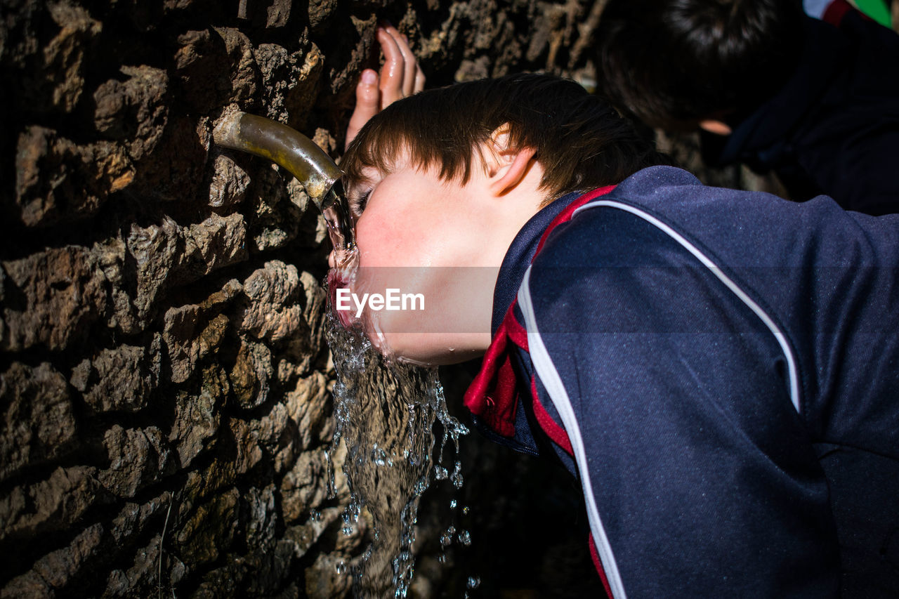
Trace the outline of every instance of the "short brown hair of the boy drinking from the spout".
<path fill-rule="evenodd" d="M 547 203 L 619 183 L 645 166 L 672 164 L 581 85 L 524 74 L 449 85 L 390 104 L 352 140 L 341 162 L 344 183 L 360 183 L 367 167 L 390 173 L 396 157 L 407 153 L 414 166 L 439 167 L 441 179 L 465 184 L 472 156 L 506 123 L 512 149 L 536 150 Z"/>

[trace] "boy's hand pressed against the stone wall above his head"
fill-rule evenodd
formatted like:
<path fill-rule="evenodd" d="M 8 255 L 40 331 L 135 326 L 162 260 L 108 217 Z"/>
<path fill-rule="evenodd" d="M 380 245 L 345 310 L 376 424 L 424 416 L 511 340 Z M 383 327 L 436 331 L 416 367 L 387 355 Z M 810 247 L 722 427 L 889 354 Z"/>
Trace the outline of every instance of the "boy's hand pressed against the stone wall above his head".
<path fill-rule="evenodd" d="M 378 26 L 378 43 L 384 52 L 380 75 L 370 68 L 362 71 L 356 85 L 356 109 L 346 128 L 346 146 L 369 119 L 390 103 L 424 89 L 424 73 L 409 49 L 405 35 L 393 25 Z"/>

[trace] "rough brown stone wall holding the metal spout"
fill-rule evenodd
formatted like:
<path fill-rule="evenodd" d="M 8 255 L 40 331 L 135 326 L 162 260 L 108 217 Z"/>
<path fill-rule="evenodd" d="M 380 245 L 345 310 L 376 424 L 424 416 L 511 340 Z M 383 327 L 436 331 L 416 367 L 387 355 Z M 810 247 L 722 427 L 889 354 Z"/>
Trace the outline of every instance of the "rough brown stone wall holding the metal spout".
<path fill-rule="evenodd" d="M 236 106 L 337 154 L 378 18 L 429 85 L 589 77 L 600 5 L 4 0 L 0 597 L 346 595 L 325 231 L 211 130 Z"/>

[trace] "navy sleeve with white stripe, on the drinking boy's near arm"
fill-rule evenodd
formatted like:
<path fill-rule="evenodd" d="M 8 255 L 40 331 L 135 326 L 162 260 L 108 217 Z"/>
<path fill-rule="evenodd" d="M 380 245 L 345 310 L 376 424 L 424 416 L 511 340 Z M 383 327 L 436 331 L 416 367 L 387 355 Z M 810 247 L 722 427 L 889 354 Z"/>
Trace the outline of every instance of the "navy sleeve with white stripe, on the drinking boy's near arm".
<path fill-rule="evenodd" d="M 838 595 L 827 484 L 770 326 L 636 217 L 592 235 L 587 258 L 547 244 L 519 303 L 613 596 Z"/>

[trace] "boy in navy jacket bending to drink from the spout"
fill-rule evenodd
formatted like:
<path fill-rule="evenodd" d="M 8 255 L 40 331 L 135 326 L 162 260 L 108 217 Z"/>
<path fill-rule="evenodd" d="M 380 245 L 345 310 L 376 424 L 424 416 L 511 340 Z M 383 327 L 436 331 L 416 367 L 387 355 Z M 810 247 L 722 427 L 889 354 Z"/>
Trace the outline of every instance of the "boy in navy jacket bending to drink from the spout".
<path fill-rule="evenodd" d="M 899 216 L 704 187 L 573 82 L 415 94 L 342 167 L 363 318 L 484 353 L 482 431 L 580 478 L 616 598 L 836 596 L 818 443 L 899 459 Z"/>

